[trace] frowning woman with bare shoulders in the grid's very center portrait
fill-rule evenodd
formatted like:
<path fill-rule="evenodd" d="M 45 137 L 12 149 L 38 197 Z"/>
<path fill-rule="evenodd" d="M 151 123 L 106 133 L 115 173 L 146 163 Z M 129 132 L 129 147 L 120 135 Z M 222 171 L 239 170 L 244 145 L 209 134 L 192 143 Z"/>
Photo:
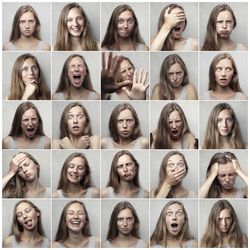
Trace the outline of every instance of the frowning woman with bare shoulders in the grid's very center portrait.
<path fill-rule="evenodd" d="M 103 149 L 148 149 L 148 139 L 141 135 L 140 121 L 129 103 L 118 104 L 109 119 L 110 137 L 101 140 Z"/>

